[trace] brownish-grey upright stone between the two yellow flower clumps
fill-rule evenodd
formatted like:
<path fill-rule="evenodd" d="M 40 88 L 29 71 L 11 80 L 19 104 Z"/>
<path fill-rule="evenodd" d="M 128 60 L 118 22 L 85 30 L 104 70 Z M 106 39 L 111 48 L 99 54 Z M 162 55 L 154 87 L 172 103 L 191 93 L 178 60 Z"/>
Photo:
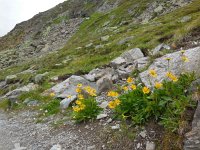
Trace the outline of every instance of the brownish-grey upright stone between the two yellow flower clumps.
<path fill-rule="evenodd" d="M 113 87 L 112 77 L 105 75 L 96 82 L 96 85 L 99 94 L 102 92 L 107 92 Z"/>

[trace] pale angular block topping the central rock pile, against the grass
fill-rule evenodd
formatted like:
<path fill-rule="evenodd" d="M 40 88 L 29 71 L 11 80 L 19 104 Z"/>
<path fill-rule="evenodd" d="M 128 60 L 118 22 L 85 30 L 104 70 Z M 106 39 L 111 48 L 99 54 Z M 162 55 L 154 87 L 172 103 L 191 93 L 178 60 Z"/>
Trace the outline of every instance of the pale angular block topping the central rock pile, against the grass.
<path fill-rule="evenodd" d="M 144 54 L 142 53 L 142 51 L 139 48 L 134 48 L 134 49 L 124 52 L 121 55 L 121 57 L 124 58 L 126 60 L 126 62 L 130 63 L 136 59 L 144 57 Z"/>

